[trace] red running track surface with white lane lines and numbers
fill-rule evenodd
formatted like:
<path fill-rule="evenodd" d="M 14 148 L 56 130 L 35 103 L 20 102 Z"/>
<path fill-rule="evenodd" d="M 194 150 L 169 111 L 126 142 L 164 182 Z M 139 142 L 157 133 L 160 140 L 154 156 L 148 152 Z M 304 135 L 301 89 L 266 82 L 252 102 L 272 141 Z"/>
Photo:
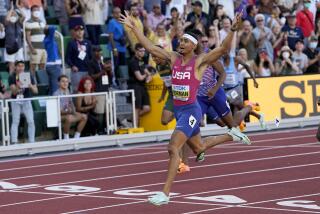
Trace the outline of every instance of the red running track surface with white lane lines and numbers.
<path fill-rule="evenodd" d="M 315 133 L 253 134 L 252 146 L 218 146 L 202 164 L 192 157 L 161 207 L 146 198 L 163 186 L 165 145 L 0 162 L 0 213 L 320 213 Z"/>

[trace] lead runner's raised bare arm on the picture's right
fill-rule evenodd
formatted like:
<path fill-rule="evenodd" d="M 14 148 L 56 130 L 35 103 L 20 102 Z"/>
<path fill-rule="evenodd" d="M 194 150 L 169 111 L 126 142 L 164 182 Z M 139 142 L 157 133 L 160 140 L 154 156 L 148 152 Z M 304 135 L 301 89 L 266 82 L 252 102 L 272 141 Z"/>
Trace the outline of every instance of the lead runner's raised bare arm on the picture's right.
<path fill-rule="evenodd" d="M 205 54 L 202 58 L 200 66 L 212 65 L 220 57 L 227 54 L 231 49 L 232 40 L 234 37 L 234 32 L 237 31 L 238 26 L 241 22 L 242 12 L 237 14 L 233 20 L 231 27 L 231 32 L 228 33 L 227 37 L 223 40 L 220 47 L 213 49 L 209 53 Z"/>

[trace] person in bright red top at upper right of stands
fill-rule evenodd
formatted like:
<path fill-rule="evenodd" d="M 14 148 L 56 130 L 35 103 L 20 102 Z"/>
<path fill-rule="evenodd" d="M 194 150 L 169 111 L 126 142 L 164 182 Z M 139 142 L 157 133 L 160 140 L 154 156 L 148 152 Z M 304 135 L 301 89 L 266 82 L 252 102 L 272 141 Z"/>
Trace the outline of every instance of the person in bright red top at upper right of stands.
<path fill-rule="evenodd" d="M 303 0 L 303 10 L 297 13 L 297 26 L 301 28 L 303 36 L 308 38 L 311 36 L 311 33 L 314 31 L 314 16 L 309 10 L 311 6 L 310 0 Z"/>

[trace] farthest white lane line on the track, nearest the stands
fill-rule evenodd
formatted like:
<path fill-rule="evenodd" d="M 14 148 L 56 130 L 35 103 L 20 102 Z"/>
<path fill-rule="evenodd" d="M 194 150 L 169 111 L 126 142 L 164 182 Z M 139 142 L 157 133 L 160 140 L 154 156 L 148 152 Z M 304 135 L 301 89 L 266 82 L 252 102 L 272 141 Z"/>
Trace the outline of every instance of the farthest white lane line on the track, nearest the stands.
<path fill-rule="evenodd" d="M 284 138 L 277 138 L 277 139 L 256 140 L 256 141 L 254 141 L 254 143 L 275 142 L 275 141 L 291 140 L 291 139 L 307 138 L 307 137 L 314 137 L 314 135 L 301 135 L 301 136 L 284 137 Z M 301 144 L 301 145 L 303 145 L 303 144 Z M 243 147 L 243 148 L 250 148 L 250 147 Z M 167 153 L 167 151 L 164 150 L 164 151 L 157 151 L 157 152 L 145 152 L 145 153 L 136 153 L 136 154 L 130 154 L 130 155 L 119 155 L 119 156 L 112 156 L 112 157 L 109 156 L 109 157 L 104 157 L 104 158 L 93 158 L 93 159 L 84 159 L 84 160 L 75 160 L 75 161 L 66 161 L 66 162 L 55 162 L 55 163 L 50 163 L 50 164 L 40 164 L 40 165 L 32 165 L 32 166 L 24 166 L 24 167 L 16 167 L 16 168 L 7 168 L 7 169 L 0 169 L 0 172 L 21 170 L 21 169 L 32 169 L 32 168 L 48 167 L 48 166 L 57 166 L 57 165 L 64 165 L 64 164 L 74 164 L 74 163 L 77 164 L 77 163 L 93 162 L 93 161 L 101 161 L 101 160 L 112 160 L 112 159 L 117 159 L 117 158 L 130 158 L 130 157 L 145 156 L 145 155 L 148 156 L 148 155 L 164 154 L 164 153 Z"/>

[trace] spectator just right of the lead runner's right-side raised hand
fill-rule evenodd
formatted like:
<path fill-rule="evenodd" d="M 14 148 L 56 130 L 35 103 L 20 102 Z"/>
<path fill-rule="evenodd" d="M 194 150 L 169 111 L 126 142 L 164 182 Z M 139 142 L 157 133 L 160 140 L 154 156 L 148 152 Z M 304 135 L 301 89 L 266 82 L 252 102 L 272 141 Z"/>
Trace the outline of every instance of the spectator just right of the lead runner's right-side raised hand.
<path fill-rule="evenodd" d="M 248 52 L 248 59 L 253 60 L 258 53 L 258 42 L 252 33 L 252 26 L 248 20 L 242 24 L 243 28 L 238 33 L 239 48 L 244 48 Z"/>

